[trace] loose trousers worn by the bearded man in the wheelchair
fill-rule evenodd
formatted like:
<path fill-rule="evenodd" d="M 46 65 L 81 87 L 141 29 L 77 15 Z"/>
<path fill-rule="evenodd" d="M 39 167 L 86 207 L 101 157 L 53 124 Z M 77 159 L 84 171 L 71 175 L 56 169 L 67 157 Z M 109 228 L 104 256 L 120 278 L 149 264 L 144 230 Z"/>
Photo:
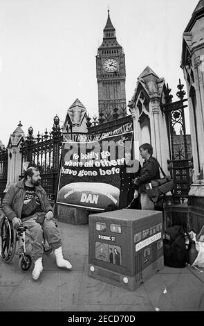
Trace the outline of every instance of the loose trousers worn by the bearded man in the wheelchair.
<path fill-rule="evenodd" d="M 38 213 L 39 214 L 39 213 Z M 28 228 L 30 234 L 30 244 L 32 246 L 32 258 L 35 262 L 39 257 L 42 257 L 44 249 L 42 245 L 43 232 L 44 237 L 48 241 L 49 245 L 53 250 L 62 246 L 60 234 L 55 226 L 55 220 L 50 218 L 49 221 L 44 220 L 43 225 L 36 222 L 38 214 L 29 216 L 26 221 L 22 221 L 23 225 Z"/>

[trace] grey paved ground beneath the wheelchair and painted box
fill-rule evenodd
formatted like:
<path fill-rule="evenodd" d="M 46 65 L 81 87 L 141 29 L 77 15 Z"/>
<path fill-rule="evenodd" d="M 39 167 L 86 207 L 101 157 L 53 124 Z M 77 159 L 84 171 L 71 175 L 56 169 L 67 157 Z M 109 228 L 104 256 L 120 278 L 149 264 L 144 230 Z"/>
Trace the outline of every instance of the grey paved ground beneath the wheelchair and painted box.
<path fill-rule="evenodd" d="M 34 281 L 33 266 L 20 271 L 17 255 L 9 265 L 0 259 L 0 311 L 204 311 L 204 268 L 165 267 L 127 291 L 88 276 L 89 225 L 58 228 L 73 270 L 58 268 L 52 252 Z"/>

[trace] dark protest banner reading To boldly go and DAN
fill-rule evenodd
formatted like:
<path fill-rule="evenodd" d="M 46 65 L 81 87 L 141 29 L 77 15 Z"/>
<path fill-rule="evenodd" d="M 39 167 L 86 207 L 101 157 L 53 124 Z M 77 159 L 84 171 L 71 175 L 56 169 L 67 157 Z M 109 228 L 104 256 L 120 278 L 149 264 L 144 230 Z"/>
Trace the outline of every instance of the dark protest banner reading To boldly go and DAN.
<path fill-rule="evenodd" d="M 102 211 L 118 207 L 120 166 L 131 150 L 133 125 L 98 134 L 68 134 L 62 143 L 57 203 Z"/>

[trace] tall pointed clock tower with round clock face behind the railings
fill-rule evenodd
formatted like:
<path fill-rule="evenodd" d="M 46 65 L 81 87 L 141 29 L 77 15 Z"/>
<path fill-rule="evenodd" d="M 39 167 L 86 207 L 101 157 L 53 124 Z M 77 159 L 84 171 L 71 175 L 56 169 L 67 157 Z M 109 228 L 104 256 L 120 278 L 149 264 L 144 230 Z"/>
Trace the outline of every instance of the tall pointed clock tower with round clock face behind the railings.
<path fill-rule="evenodd" d="M 103 42 L 96 55 L 96 76 L 98 82 L 98 110 L 104 121 L 113 120 L 113 113 L 118 117 L 127 115 L 125 95 L 125 62 L 122 46 L 118 44 L 115 28 L 108 19 L 104 28 Z M 118 110 L 115 110 L 118 109 Z"/>

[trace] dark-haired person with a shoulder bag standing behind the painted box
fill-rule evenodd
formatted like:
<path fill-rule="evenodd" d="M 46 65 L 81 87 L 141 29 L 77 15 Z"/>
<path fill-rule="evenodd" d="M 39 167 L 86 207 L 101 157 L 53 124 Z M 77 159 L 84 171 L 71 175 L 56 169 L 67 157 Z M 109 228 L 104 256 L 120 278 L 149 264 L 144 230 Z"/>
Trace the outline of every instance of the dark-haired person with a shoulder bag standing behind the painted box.
<path fill-rule="evenodd" d="M 139 150 L 142 159 L 145 161 L 138 178 L 133 182 L 133 189 L 137 189 L 140 194 L 142 209 L 154 210 L 154 203 L 145 193 L 145 184 L 151 182 L 151 180 L 160 179 L 159 163 L 155 157 L 152 157 L 153 148 L 150 144 L 142 144 Z"/>

